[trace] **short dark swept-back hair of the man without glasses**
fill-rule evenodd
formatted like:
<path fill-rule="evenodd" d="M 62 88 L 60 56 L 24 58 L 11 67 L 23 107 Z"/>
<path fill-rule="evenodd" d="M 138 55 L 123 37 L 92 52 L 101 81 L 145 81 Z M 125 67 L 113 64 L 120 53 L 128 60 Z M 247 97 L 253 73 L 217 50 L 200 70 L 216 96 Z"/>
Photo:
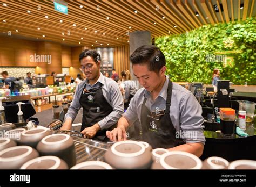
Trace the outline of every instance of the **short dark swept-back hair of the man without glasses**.
<path fill-rule="evenodd" d="M 154 45 L 144 45 L 137 48 L 130 55 L 130 61 L 132 64 L 147 64 L 147 68 L 156 73 L 159 73 L 166 64 L 163 52 Z"/>

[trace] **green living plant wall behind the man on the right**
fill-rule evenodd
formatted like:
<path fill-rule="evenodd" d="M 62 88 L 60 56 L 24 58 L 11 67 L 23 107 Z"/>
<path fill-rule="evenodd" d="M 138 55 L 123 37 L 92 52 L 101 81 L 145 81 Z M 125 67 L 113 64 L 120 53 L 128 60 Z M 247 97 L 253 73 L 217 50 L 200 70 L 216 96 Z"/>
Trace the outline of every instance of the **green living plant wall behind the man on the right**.
<path fill-rule="evenodd" d="M 204 25 L 180 35 L 156 38 L 172 81 L 211 84 L 214 68 L 222 80 L 256 84 L 255 18 Z"/>

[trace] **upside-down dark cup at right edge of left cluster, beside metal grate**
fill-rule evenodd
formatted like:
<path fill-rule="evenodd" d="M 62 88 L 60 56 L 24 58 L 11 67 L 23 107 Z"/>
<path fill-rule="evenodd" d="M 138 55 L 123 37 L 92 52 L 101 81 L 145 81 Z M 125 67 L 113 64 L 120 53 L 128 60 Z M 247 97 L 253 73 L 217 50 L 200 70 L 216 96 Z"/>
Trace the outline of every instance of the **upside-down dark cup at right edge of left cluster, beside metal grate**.
<path fill-rule="evenodd" d="M 37 145 L 41 156 L 53 155 L 63 159 L 71 168 L 76 164 L 76 152 L 73 139 L 68 134 L 45 136 Z"/>

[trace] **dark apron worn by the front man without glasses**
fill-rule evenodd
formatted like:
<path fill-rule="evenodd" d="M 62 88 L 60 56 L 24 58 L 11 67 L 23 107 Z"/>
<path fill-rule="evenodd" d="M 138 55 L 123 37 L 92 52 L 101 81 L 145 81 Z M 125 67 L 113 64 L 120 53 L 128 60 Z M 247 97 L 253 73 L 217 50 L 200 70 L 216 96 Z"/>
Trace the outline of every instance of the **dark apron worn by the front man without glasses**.
<path fill-rule="evenodd" d="M 176 138 L 176 130 L 170 118 L 172 99 L 172 82 L 169 80 L 166 98 L 166 107 L 163 111 L 150 112 L 145 106 L 146 98 L 142 104 L 142 139 L 152 148 L 171 148 L 184 144 L 183 139 Z"/>

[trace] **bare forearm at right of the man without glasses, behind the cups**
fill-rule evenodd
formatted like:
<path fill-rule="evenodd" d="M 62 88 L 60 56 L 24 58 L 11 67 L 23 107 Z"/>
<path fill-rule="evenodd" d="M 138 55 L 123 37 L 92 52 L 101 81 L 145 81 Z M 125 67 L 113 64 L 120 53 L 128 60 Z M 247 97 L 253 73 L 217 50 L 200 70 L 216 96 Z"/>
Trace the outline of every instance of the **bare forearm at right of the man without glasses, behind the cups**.
<path fill-rule="evenodd" d="M 203 154 L 204 145 L 203 143 L 186 143 L 180 146 L 169 148 L 168 150 L 171 150 L 171 151 L 180 150 L 180 151 L 188 152 L 200 157 Z"/>

